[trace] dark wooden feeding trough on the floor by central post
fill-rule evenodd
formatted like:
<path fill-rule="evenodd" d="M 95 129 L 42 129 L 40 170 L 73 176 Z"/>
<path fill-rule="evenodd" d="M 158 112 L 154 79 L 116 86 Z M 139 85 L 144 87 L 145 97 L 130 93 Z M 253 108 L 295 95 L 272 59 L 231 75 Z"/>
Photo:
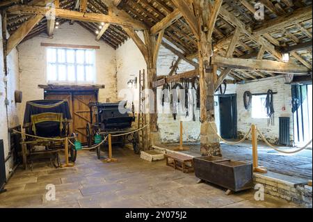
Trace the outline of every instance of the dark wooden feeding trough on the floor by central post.
<path fill-rule="evenodd" d="M 193 159 L 195 176 L 231 191 L 253 187 L 252 164 L 221 157 L 196 157 Z"/>

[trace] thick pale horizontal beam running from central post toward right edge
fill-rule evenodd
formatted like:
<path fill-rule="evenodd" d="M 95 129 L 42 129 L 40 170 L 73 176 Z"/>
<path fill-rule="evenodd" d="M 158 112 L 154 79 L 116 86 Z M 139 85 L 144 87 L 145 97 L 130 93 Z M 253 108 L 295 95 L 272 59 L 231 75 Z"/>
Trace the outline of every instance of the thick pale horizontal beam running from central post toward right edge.
<path fill-rule="evenodd" d="M 307 74 L 310 71 L 308 68 L 292 63 L 257 59 L 225 58 L 222 56 L 213 56 L 212 64 L 232 68 L 234 70 L 278 72 L 283 74 Z"/>

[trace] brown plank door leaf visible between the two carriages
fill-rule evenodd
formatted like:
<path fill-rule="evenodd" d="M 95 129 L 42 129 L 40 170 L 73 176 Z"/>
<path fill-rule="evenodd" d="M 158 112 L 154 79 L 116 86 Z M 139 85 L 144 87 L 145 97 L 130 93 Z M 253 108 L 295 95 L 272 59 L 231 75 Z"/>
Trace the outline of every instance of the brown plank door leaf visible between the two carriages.
<path fill-rule="evenodd" d="M 89 102 L 96 102 L 97 95 L 95 93 L 73 93 L 73 129 L 78 134 L 81 143 L 87 143 L 86 125 L 90 123 Z"/>

